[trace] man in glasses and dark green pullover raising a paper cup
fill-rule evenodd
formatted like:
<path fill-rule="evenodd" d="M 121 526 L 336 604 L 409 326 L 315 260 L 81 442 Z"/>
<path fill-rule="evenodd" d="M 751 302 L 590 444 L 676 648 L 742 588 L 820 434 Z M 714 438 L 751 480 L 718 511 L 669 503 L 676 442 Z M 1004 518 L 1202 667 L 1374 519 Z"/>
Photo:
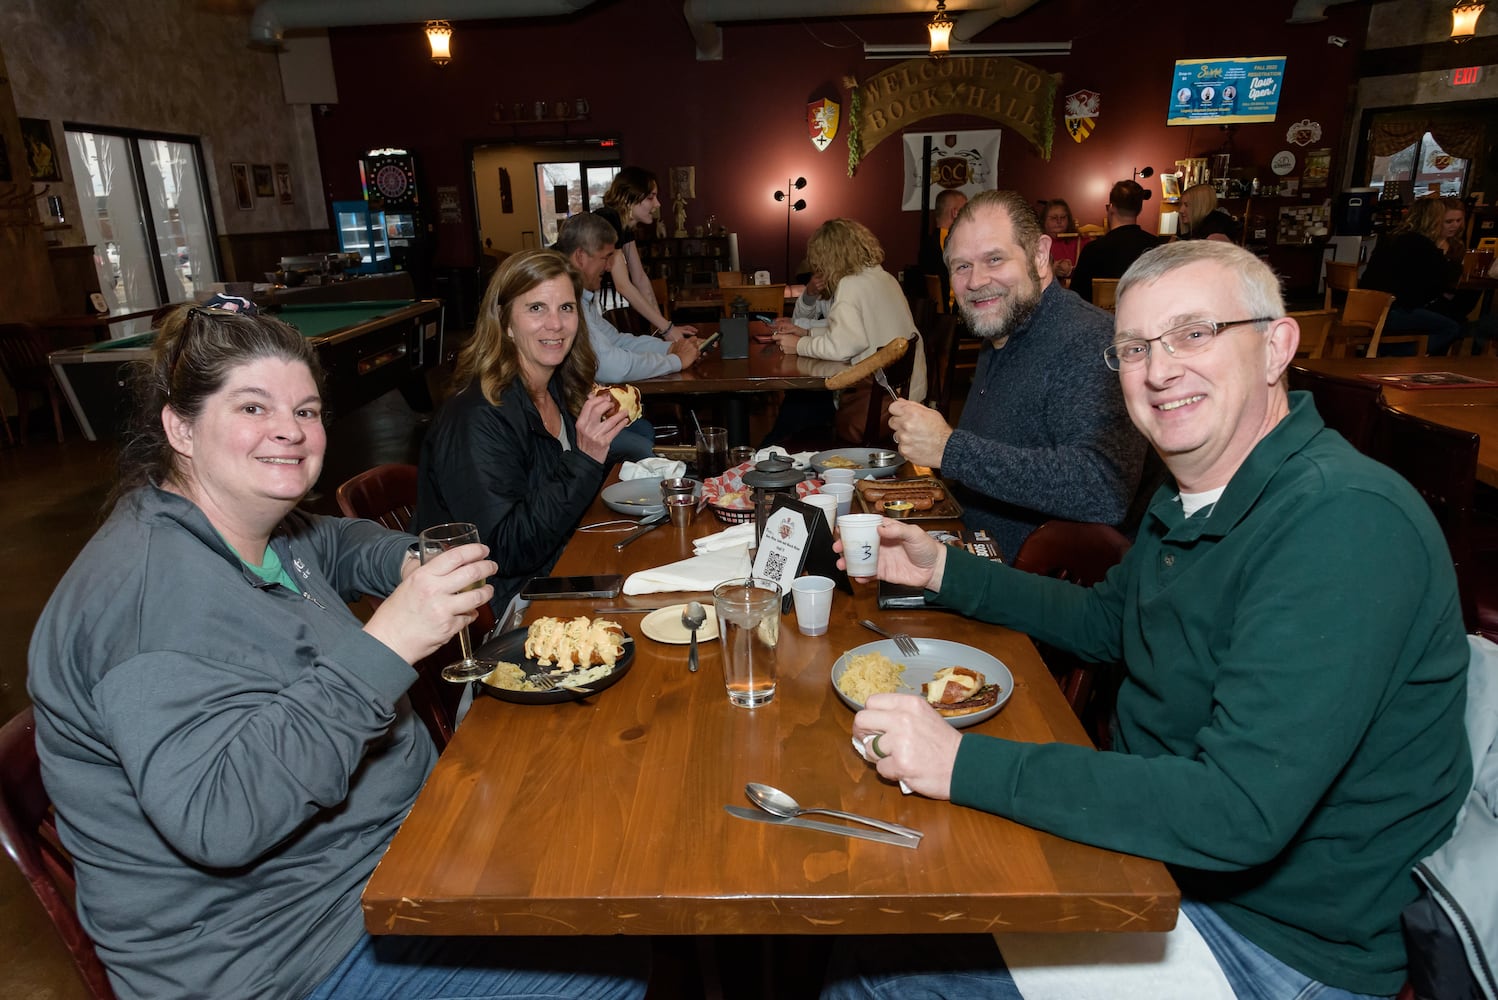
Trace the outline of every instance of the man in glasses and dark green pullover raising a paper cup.
<path fill-rule="evenodd" d="M 1170 865 L 1240 1000 L 1392 996 L 1410 870 L 1471 783 L 1446 540 L 1404 479 L 1285 391 L 1299 328 L 1257 257 L 1177 243 L 1118 290 L 1098 364 L 1171 473 L 1124 561 L 1086 590 L 896 521 L 879 554 L 884 579 L 1122 662 L 1115 751 L 963 735 L 905 695 L 870 698 L 854 735 L 879 734 L 879 774 L 915 792 Z M 849 946 L 825 996 L 896 996 L 878 993 L 890 976 L 897 996 L 1023 996 L 971 940 L 951 961 L 918 943 L 942 970 L 926 993 L 879 945 Z"/>

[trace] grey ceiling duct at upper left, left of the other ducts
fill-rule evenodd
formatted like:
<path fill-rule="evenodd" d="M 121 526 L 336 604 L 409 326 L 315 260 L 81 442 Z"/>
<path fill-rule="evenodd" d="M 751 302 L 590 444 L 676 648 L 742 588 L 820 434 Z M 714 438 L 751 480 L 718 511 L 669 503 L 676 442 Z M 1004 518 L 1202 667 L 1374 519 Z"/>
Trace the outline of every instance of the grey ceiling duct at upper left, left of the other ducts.
<path fill-rule="evenodd" d="M 493 21 L 577 13 L 593 0 L 265 0 L 250 15 L 252 45 L 280 45 L 286 31 L 355 24 Z"/>

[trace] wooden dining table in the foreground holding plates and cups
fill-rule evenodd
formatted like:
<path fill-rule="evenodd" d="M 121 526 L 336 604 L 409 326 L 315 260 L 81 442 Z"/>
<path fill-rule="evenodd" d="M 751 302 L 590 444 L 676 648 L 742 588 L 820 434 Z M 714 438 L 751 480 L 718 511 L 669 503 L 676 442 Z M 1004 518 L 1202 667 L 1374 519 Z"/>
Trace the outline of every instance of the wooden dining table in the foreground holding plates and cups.
<path fill-rule="evenodd" d="M 557 575 L 661 566 L 722 528 L 707 510 L 622 552 L 595 501 Z M 950 525 L 950 522 L 948 522 Z M 1089 847 L 998 816 L 902 795 L 851 744 L 852 711 L 830 671 L 876 641 L 873 618 L 917 638 L 977 647 L 1008 666 L 1008 702 L 974 732 L 1025 741 L 1088 738 L 1031 641 L 942 611 L 884 612 L 875 587 L 837 591 L 825 635 L 780 620 L 774 699 L 730 705 L 718 641 L 688 671 L 685 645 L 641 632 L 641 614 L 707 594 L 547 600 L 539 615 L 619 621 L 628 672 L 581 701 L 521 705 L 488 695 L 457 729 L 380 861 L 363 904 L 373 934 L 911 934 L 1159 931 L 1179 891 L 1164 865 Z M 595 612 L 595 605 L 620 611 Z M 748 822 L 745 786 L 803 805 L 924 831 L 917 849 Z"/>

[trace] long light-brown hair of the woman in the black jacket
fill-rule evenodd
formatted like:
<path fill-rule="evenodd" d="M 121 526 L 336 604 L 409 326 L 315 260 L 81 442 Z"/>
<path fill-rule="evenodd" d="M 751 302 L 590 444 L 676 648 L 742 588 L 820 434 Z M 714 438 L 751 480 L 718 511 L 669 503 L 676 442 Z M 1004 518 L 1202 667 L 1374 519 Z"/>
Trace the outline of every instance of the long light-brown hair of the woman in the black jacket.
<path fill-rule="evenodd" d="M 473 335 L 458 352 L 452 385 L 463 389 L 478 379 L 479 391 L 493 406 L 505 389 L 520 376 L 520 353 L 515 341 L 508 337 L 514 325 L 515 302 L 530 289 L 565 277 L 572 284 L 577 302 L 577 337 L 562 362 L 562 400 L 572 416 L 583 409 L 587 394 L 593 391 L 593 376 L 598 373 L 598 355 L 587 338 L 587 320 L 583 317 L 583 275 L 556 250 L 521 250 L 505 257 L 494 271 L 484 299 L 479 302 L 478 323 Z"/>

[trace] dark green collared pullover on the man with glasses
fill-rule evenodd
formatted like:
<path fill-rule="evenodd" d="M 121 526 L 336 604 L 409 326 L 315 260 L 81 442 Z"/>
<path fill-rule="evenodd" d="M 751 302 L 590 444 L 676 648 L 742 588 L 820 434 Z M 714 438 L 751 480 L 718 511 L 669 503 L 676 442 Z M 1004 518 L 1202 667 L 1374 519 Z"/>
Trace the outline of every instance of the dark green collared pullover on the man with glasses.
<path fill-rule="evenodd" d="M 1452 557 L 1306 394 L 1192 518 L 1167 487 L 1091 590 L 951 551 L 942 603 L 1128 671 L 1116 751 L 965 735 L 954 802 L 1156 858 L 1288 966 L 1404 979 L 1410 870 L 1471 783 Z"/>

